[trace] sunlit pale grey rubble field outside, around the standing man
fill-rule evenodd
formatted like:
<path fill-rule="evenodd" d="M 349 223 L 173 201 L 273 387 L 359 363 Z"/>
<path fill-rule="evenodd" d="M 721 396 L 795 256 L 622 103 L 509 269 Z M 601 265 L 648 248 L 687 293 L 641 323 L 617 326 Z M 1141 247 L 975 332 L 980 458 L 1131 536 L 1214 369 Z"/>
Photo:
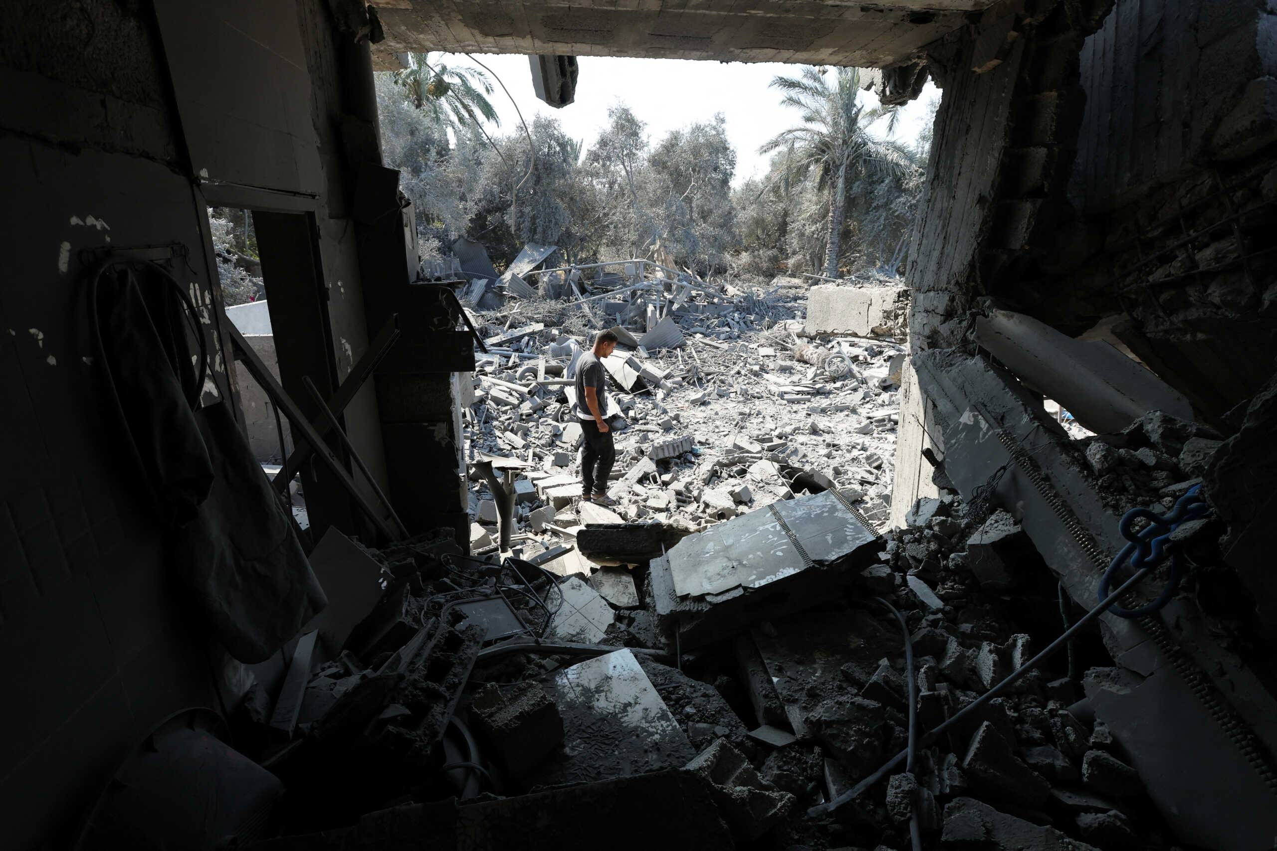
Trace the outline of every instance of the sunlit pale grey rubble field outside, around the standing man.
<path fill-rule="evenodd" d="M 903 341 L 810 339 L 799 318 L 805 293 L 784 283 L 764 292 L 725 287 L 651 316 L 649 332 L 613 327 L 622 339 L 605 361 L 622 415 L 609 487 L 619 503 L 613 522 L 697 529 L 830 487 L 856 491 L 865 514 L 885 521 Z M 526 464 L 516 481 L 516 535 L 534 551 L 570 540 L 562 529 L 589 522 L 573 508 L 581 431 L 570 376 L 607 325 L 573 336 L 563 324 L 521 318 L 566 320 L 564 304 L 518 301 L 474 314 L 490 355 L 479 356 L 472 381 L 469 455 Z M 651 334 L 660 347 L 649 348 Z M 483 527 L 474 531 L 476 549 L 495 540 L 493 501 L 485 482 L 475 482 L 470 508 Z"/>

